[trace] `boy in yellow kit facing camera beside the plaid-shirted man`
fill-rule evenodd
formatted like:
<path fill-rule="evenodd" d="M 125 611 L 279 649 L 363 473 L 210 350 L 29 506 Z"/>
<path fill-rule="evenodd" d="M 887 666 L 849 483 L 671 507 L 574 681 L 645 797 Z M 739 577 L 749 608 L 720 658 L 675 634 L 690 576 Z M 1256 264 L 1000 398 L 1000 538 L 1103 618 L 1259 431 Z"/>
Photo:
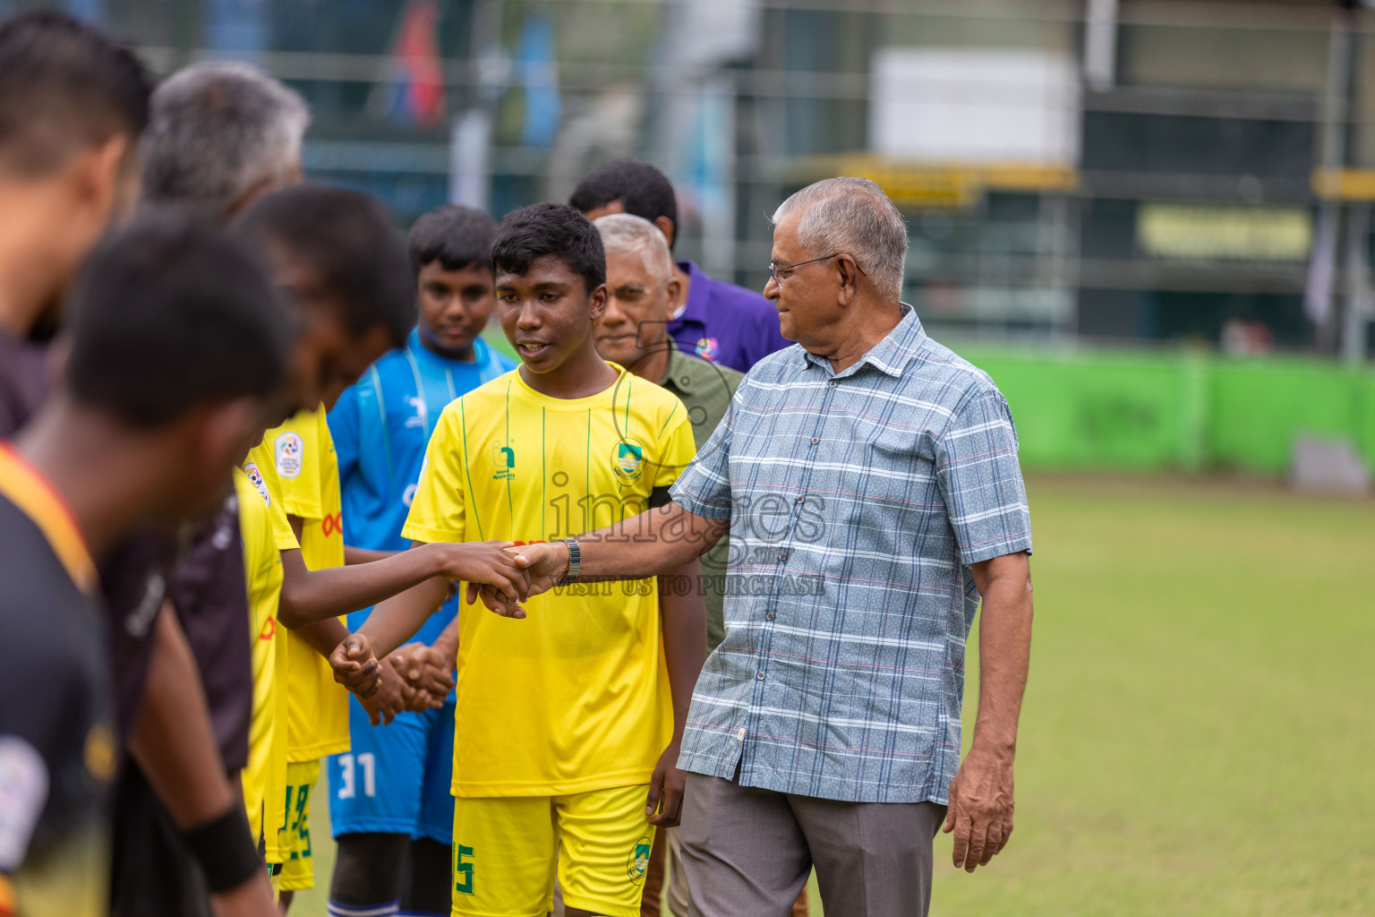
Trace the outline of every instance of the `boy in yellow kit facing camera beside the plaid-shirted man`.
<path fill-rule="evenodd" d="M 597 230 L 562 205 L 525 208 L 502 224 L 492 264 L 521 366 L 444 410 L 403 533 L 542 542 L 659 505 L 692 461 L 692 422 L 593 346 L 606 301 Z M 374 609 L 336 650 L 337 671 L 414 632 L 425 588 Z M 582 584 L 532 598 L 527 620 L 473 598 L 456 619 L 452 914 L 543 914 L 557 873 L 571 917 L 637 916 L 654 826 L 676 824 L 681 804 L 701 598 L 660 597 L 653 580 Z"/>

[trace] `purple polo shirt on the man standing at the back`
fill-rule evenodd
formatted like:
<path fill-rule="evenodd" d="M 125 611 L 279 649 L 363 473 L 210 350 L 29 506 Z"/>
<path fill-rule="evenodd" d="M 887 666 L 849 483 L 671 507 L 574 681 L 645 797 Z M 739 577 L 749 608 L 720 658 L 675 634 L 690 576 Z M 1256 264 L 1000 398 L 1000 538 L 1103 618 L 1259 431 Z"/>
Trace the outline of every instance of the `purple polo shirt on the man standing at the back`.
<path fill-rule="evenodd" d="M 716 280 L 692 261 L 678 267 L 692 278 L 683 313 L 668 322 L 683 353 L 748 373 L 749 367 L 792 341 L 778 331 L 778 309 L 754 290 Z"/>

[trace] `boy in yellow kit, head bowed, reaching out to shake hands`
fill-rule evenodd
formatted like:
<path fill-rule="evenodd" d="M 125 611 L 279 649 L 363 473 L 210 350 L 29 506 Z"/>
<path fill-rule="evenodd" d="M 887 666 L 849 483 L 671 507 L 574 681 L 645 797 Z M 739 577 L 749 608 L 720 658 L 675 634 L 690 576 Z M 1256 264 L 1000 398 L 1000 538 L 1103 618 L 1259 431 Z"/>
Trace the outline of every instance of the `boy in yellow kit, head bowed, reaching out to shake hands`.
<path fill-rule="evenodd" d="M 414 323 L 414 276 L 400 235 L 375 201 L 340 188 L 300 186 L 261 198 L 235 232 L 272 264 L 274 279 L 300 315 L 296 341 L 297 392 L 302 410 L 268 430 L 249 452 L 245 472 L 261 483 L 282 561 L 278 621 L 292 628 L 286 643 L 287 774 L 282 793 L 285 859 L 282 901 L 314 885 L 309 797 L 319 759 L 344 752 L 348 705 L 324 663 L 346 637 L 337 617 L 396 595 L 430 577 L 503 582 L 514 595 L 522 580 L 499 543 L 433 546 L 371 564 L 344 566 L 338 469 L 324 410 Z M 437 605 L 437 602 L 436 602 Z M 392 665 L 374 665 L 341 679 L 355 689 L 375 722 L 389 722 L 407 704 L 437 705 L 408 689 Z"/>

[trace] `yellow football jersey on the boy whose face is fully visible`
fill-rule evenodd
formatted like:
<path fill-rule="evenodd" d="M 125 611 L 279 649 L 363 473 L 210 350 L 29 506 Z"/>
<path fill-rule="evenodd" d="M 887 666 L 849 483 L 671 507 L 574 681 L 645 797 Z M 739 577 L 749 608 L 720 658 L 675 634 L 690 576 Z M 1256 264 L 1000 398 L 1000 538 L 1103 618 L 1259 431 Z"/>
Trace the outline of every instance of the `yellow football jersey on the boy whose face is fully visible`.
<path fill-rule="evenodd" d="M 444 408 L 403 535 L 540 542 L 634 516 L 693 458 L 670 392 L 626 373 L 591 397 L 520 370 Z M 556 796 L 645 784 L 672 737 L 654 580 L 531 598 L 529 617 L 459 606 L 456 796 Z"/>

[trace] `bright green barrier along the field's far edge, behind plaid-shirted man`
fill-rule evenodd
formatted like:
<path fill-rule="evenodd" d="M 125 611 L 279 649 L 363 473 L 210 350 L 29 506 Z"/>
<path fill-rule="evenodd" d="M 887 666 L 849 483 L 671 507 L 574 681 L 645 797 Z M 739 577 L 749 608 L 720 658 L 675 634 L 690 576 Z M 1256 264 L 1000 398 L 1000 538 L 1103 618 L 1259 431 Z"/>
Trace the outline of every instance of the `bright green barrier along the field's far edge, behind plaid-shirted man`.
<path fill-rule="evenodd" d="M 1375 469 L 1375 374 L 1199 351 L 954 348 L 1012 406 L 1026 467 L 1283 474 L 1295 437 L 1345 439 Z"/>

